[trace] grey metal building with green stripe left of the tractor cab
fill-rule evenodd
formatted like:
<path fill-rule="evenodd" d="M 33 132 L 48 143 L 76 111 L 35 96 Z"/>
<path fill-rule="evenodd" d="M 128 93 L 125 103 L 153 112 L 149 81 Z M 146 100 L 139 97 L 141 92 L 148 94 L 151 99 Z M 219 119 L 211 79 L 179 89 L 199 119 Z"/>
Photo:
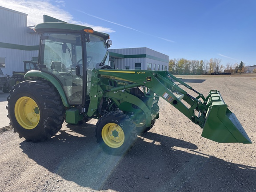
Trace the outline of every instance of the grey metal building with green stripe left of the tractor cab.
<path fill-rule="evenodd" d="M 24 60 L 37 60 L 39 38 L 27 26 L 27 14 L 0 6 L 0 67 L 4 74 L 24 71 Z"/>

